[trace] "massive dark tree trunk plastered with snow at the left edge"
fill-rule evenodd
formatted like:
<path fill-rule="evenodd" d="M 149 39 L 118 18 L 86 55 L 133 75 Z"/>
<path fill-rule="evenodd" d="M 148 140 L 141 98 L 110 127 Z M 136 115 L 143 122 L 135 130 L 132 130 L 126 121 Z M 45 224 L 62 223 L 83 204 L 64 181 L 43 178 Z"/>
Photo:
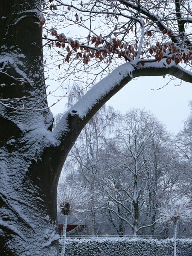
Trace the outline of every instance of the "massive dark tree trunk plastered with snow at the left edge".
<path fill-rule="evenodd" d="M 47 107 L 37 6 L 40 0 L 0 2 L 2 256 L 58 253 L 56 156 L 44 151 L 52 115 L 30 109 Z"/>

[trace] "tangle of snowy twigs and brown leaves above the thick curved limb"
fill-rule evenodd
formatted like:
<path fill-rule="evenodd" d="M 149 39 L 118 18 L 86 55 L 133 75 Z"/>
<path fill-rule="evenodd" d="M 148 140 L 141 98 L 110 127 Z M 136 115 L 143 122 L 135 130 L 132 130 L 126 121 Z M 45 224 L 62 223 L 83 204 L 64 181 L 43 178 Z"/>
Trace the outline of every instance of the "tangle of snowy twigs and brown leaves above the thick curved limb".
<path fill-rule="evenodd" d="M 144 66 L 163 58 L 168 65 L 174 61 L 175 65 L 191 66 L 190 1 L 99 0 L 69 4 L 49 0 L 44 2 L 42 12 L 48 20 L 56 14 L 62 16 L 62 25 L 55 20 L 54 28 L 46 26 L 44 40 L 55 55 L 60 55 L 64 65 L 57 59 L 58 68 L 70 70 L 67 74 L 89 70 L 97 76 L 124 61 Z M 71 33 L 77 27 L 81 35 Z M 70 37 L 66 35 L 69 29 Z"/>

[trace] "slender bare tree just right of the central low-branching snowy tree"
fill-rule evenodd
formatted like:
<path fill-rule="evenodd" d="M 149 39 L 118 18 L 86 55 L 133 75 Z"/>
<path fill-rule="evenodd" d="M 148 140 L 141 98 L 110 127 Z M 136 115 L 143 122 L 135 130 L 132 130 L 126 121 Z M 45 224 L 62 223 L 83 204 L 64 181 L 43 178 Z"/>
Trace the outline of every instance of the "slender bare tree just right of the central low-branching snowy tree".
<path fill-rule="evenodd" d="M 151 222 L 151 236 L 155 234 L 156 216 L 159 202 L 164 198 L 167 187 L 171 188 L 169 178 L 165 178 L 172 169 L 171 137 L 166 128 L 154 116 L 151 119 L 151 136 L 148 139 L 143 158 L 145 161 L 145 212 Z"/>

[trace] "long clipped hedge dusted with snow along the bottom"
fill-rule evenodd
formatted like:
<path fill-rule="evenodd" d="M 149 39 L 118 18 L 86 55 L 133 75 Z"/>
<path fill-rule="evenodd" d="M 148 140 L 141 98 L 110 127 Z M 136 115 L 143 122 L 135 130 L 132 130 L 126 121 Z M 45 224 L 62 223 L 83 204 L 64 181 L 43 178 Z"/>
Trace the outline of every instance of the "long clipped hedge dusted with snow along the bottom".
<path fill-rule="evenodd" d="M 65 256 L 173 256 L 173 239 L 67 239 Z M 177 239 L 177 256 L 192 256 L 192 239 Z"/>

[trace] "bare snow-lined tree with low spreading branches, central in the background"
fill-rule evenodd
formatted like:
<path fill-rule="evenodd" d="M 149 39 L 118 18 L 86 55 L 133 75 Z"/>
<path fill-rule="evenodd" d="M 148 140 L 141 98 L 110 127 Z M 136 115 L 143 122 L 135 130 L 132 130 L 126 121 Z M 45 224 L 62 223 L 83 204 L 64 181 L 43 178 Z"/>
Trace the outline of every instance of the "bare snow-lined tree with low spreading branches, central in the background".
<path fill-rule="evenodd" d="M 146 168 L 151 162 L 151 155 L 145 154 L 146 148 L 149 150 L 149 140 L 154 137 L 160 125 L 151 113 L 139 109 L 127 112 L 122 116 L 122 120 L 116 135 L 116 151 L 119 152 L 119 157 L 114 160 L 114 155 L 109 151 L 110 171 L 105 171 L 104 191 L 110 202 L 113 201 L 118 206 L 117 210 L 108 206 L 108 210 L 111 209 L 111 214 L 116 214 L 116 217 L 122 221 L 126 220 L 133 235 L 136 236 L 139 230 L 154 225 L 154 223 L 146 224 L 146 220 L 145 224 L 141 225 L 139 221 L 140 207 L 146 200 L 145 186 L 149 183 L 145 175 L 148 176 L 151 172 L 151 169 Z M 119 207 L 122 209 L 121 214 Z"/>

